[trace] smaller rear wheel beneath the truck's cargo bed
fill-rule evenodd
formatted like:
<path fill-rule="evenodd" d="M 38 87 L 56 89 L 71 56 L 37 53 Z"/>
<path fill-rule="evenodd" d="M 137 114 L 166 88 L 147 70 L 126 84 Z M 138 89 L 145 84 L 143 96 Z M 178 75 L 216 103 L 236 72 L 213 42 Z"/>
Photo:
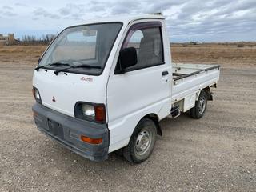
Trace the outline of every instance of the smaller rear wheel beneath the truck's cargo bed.
<path fill-rule="evenodd" d="M 204 90 L 201 91 L 198 101 L 195 102 L 194 107 L 190 110 L 190 116 L 192 118 L 202 118 L 206 112 L 207 95 Z"/>

